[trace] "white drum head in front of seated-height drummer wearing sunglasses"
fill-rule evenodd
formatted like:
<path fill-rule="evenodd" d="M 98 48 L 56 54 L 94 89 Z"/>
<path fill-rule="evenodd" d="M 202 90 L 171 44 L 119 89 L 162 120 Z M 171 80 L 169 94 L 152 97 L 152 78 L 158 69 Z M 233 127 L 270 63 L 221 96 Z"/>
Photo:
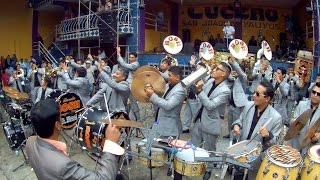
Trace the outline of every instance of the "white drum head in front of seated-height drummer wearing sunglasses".
<path fill-rule="evenodd" d="M 257 140 L 252 140 L 249 144 L 248 144 L 249 140 L 244 140 L 241 142 L 238 142 L 232 146 L 230 146 L 227 149 L 228 154 L 232 155 L 232 156 L 240 156 L 243 154 L 248 154 L 250 152 L 252 152 L 253 150 L 255 150 L 255 148 L 257 148 L 261 143 Z"/>

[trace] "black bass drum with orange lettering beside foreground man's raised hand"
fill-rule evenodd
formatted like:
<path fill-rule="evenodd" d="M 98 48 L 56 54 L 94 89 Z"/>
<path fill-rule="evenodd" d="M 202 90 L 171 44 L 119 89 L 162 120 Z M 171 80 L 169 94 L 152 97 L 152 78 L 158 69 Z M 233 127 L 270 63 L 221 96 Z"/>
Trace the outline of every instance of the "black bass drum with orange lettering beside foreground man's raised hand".
<path fill-rule="evenodd" d="M 76 127 L 78 142 L 82 149 L 100 155 L 103 149 L 106 127 L 101 120 L 107 117 L 106 112 L 94 107 L 83 112 Z"/>

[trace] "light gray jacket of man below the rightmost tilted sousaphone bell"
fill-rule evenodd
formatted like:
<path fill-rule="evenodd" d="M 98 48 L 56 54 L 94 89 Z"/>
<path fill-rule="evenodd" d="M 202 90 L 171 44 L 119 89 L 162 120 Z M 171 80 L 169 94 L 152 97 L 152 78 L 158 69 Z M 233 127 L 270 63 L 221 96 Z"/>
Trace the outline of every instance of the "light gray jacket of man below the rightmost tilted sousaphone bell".
<path fill-rule="evenodd" d="M 272 79 L 272 71 L 267 69 L 265 72 L 265 75 L 262 77 L 262 74 L 259 73 L 259 71 L 261 70 L 262 64 L 258 64 L 257 66 L 255 66 L 253 68 L 252 71 L 252 84 L 250 86 L 250 92 L 253 93 L 257 86 L 259 85 L 259 83 L 261 81 L 268 81 L 270 82 L 270 80 Z"/>

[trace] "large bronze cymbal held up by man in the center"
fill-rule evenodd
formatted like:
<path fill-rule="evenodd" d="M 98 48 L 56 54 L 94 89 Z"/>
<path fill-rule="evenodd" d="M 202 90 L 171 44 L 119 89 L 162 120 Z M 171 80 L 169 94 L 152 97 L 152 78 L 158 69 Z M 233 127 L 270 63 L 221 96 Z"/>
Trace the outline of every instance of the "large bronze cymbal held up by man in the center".
<path fill-rule="evenodd" d="M 144 88 L 147 84 L 151 84 L 154 92 L 158 96 L 162 96 L 166 87 L 166 82 L 159 72 L 145 71 L 141 72 L 139 75 L 133 78 L 131 84 L 132 95 L 139 102 L 146 103 L 149 102 Z"/>

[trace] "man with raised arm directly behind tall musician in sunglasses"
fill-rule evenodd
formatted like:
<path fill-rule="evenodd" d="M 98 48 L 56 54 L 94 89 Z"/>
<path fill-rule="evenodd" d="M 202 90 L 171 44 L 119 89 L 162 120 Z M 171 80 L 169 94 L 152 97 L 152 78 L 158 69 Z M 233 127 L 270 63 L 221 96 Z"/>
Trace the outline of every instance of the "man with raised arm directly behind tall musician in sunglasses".
<path fill-rule="evenodd" d="M 248 98 L 245 94 L 247 75 L 233 56 L 228 58 L 228 62 L 232 67 L 231 76 L 228 78 L 228 84 L 231 89 L 228 106 L 228 129 L 230 129 L 232 123 L 239 118 L 244 105 L 248 102 Z M 229 138 L 229 135 L 224 136 L 224 138 Z"/>

